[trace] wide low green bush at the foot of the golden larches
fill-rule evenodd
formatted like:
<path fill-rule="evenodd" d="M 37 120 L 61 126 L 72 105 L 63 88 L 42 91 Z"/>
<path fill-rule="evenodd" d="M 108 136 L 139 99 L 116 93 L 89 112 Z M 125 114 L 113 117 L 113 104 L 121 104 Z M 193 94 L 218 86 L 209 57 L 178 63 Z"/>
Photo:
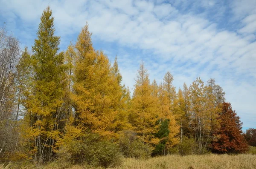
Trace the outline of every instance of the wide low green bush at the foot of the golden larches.
<path fill-rule="evenodd" d="M 65 145 L 59 151 L 59 159 L 71 163 L 87 163 L 91 166 L 113 167 L 122 163 L 122 154 L 115 143 L 101 140 L 99 135 L 89 134 Z"/>

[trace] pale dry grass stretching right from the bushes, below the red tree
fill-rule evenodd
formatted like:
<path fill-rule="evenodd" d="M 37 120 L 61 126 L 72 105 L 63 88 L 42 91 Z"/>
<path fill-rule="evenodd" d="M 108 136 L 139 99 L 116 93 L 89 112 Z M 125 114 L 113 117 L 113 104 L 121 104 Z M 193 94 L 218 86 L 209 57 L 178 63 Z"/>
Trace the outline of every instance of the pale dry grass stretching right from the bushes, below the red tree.
<path fill-rule="evenodd" d="M 120 169 L 256 169 L 256 155 L 169 155 L 148 160 L 126 159 Z"/>

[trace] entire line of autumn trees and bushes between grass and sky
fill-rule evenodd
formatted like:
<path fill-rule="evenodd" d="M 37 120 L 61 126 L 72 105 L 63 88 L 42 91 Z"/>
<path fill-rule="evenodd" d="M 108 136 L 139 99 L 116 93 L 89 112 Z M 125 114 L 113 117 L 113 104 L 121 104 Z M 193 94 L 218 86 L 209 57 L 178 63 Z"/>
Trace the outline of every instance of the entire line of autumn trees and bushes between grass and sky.
<path fill-rule="evenodd" d="M 142 62 L 131 95 L 117 57 L 111 64 L 91 35 L 86 24 L 61 52 L 49 7 L 31 51 L 1 29 L 0 159 L 109 166 L 123 156 L 242 153 L 246 139 L 255 143 L 214 79 L 176 92 L 171 72 L 151 82 Z"/>

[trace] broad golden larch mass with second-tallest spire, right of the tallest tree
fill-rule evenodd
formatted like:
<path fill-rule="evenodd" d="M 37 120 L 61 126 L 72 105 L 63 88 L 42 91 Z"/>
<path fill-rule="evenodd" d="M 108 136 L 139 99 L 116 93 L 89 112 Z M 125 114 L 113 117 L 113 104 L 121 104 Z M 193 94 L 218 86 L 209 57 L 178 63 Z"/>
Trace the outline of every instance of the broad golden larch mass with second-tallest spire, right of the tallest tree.
<path fill-rule="evenodd" d="M 75 45 L 73 106 L 76 125 L 106 137 L 129 127 L 125 112 L 126 89 L 117 60 L 113 66 L 102 51 L 93 49 L 88 25 Z"/>

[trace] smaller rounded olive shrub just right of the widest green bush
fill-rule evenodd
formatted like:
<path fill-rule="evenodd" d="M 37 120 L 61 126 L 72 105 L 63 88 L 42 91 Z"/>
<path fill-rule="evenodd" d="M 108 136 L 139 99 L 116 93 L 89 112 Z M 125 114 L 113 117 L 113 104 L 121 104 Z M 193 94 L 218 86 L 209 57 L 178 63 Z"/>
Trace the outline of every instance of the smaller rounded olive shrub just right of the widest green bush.
<path fill-rule="evenodd" d="M 119 149 L 125 157 L 129 158 L 148 158 L 151 153 L 151 149 L 138 140 L 136 133 L 131 130 L 121 132 Z"/>

